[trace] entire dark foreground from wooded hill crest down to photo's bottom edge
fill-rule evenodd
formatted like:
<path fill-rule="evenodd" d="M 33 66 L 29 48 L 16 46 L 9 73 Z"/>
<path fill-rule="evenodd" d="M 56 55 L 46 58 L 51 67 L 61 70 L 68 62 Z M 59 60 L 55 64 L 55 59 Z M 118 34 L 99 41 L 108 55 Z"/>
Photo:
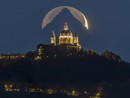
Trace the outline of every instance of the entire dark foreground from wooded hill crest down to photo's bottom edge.
<path fill-rule="evenodd" d="M 13 92 L 16 89 L 20 92 Z M 65 93 L 48 94 L 49 89 Z M 86 95 L 77 95 L 84 91 Z M 102 55 L 81 51 L 42 60 L 34 60 L 32 55 L 2 59 L 0 98 L 130 98 L 130 63 L 108 51 Z"/>

